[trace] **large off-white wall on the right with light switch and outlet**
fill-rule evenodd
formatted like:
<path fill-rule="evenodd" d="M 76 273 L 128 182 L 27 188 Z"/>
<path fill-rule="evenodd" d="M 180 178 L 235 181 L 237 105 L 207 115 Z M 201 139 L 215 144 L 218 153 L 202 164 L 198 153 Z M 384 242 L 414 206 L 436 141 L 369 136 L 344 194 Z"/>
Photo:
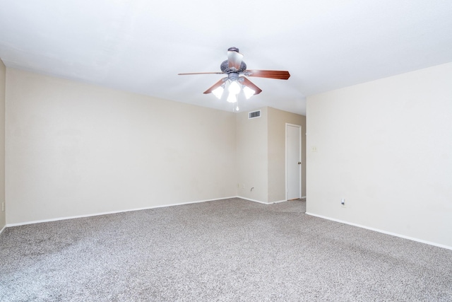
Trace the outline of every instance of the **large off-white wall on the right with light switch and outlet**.
<path fill-rule="evenodd" d="M 452 248 L 451 83 L 448 63 L 308 97 L 307 212 Z"/>

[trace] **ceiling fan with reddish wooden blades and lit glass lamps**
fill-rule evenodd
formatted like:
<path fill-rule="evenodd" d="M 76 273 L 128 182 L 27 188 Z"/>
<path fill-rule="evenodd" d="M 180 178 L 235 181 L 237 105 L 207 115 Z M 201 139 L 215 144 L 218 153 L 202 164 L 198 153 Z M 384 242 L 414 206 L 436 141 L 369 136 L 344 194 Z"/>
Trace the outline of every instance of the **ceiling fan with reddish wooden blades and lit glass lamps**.
<path fill-rule="evenodd" d="M 258 88 L 258 86 L 254 85 L 254 83 L 244 76 L 281 80 L 290 78 L 289 71 L 246 69 L 246 64 L 242 59 L 243 54 L 239 52 L 239 49 L 237 47 L 230 47 L 227 50 L 227 60 L 223 61 L 220 65 L 221 72 L 195 72 L 190 74 L 227 74 L 227 77 L 213 84 L 204 93 L 213 93 L 217 98 L 221 98 L 225 86 L 227 86 L 227 90 L 229 91 L 227 101 L 230 103 L 237 102 L 237 95 L 242 88 L 247 99 L 251 98 L 252 95 L 262 92 L 261 88 Z M 244 76 L 239 76 L 242 74 Z M 179 75 L 184 76 L 189 74 Z"/>

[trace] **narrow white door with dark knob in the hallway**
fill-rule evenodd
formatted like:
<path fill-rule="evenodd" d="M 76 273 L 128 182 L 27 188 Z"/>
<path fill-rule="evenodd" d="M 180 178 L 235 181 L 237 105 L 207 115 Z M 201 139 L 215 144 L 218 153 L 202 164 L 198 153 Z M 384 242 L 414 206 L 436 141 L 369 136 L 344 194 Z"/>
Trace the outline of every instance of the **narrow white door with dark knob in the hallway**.
<path fill-rule="evenodd" d="M 302 197 L 302 127 L 285 124 L 286 200 Z"/>

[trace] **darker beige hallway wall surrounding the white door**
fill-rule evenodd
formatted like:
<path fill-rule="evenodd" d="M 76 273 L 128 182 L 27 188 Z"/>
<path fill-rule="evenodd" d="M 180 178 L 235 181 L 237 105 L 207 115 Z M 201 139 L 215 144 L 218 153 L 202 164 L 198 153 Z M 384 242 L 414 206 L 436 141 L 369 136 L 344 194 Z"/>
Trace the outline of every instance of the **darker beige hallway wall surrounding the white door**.
<path fill-rule="evenodd" d="M 306 196 L 306 117 L 268 108 L 268 202 L 285 200 L 285 124 L 302 127 L 302 196 Z"/>

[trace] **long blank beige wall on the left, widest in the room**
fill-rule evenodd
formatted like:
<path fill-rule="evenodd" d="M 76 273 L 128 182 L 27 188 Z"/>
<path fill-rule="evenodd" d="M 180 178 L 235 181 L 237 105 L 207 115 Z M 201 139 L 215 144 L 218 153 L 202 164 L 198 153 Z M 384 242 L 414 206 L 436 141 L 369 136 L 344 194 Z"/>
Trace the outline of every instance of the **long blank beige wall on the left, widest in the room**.
<path fill-rule="evenodd" d="M 6 87 L 8 224 L 237 195 L 232 112 L 11 68 Z"/>

